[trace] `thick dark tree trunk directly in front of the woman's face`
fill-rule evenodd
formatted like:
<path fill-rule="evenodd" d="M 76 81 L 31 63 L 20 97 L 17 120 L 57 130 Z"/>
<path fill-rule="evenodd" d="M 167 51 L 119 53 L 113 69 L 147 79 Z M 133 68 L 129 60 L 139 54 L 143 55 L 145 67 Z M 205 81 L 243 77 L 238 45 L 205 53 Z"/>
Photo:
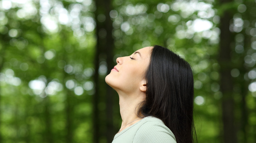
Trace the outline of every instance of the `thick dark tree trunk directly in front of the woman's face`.
<path fill-rule="evenodd" d="M 95 50 L 95 95 L 93 98 L 94 106 L 94 142 L 99 142 L 99 137 L 106 136 L 107 142 L 112 142 L 114 130 L 113 130 L 113 89 L 106 85 L 105 76 L 98 75 L 100 59 L 104 59 L 107 62 L 107 73 L 113 68 L 113 50 L 114 40 L 112 37 L 112 20 L 110 19 L 110 11 L 112 8 L 111 0 L 96 0 L 96 34 L 97 34 L 97 45 Z M 105 20 L 104 20 L 104 16 Z M 103 16 L 103 19 L 101 18 Z M 103 99 L 103 100 L 99 100 Z M 105 123 L 102 123 L 103 119 L 99 118 L 98 103 L 105 102 Z M 103 114 L 103 115 L 104 115 Z M 102 115 L 102 114 L 101 114 Z M 105 127 L 100 127 L 103 125 Z M 102 131 L 102 132 L 99 132 Z"/>

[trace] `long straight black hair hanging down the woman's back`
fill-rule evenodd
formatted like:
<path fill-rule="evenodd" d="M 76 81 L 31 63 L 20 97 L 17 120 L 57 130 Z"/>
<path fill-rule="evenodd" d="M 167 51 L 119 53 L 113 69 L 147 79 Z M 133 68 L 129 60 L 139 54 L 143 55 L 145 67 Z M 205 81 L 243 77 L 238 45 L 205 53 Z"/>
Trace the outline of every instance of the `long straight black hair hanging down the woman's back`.
<path fill-rule="evenodd" d="M 155 45 L 146 74 L 146 99 L 140 117 L 161 119 L 177 143 L 192 143 L 194 80 L 190 65 L 167 48 Z"/>

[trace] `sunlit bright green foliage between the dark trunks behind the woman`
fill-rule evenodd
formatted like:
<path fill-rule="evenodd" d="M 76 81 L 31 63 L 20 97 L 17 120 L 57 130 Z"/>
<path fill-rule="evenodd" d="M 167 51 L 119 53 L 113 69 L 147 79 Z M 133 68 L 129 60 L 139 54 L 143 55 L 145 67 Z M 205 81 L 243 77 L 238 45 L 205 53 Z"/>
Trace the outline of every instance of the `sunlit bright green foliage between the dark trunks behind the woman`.
<path fill-rule="evenodd" d="M 236 84 L 235 96 L 238 97 L 240 88 L 245 86 L 238 81 L 247 81 L 246 90 L 249 93 L 246 101 L 248 108 L 254 109 L 255 5 L 248 3 L 235 1 L 219 8 L 212 0 L 113 1 L 109 16 L 114 29 L 114 62 L 119 56 L 158 44 L 170 48 L 191 64 L 195 111 L 200 115 L 200 119 L 195 117 L 197 128 L 201 130 L 199 142 L 215 140 L 221 126 L 217 123 L 219 101 L 222 99 L 219 83 L 221 69 L 216 58 L 220 35 L 218 24 L 223 9 L 237 11 L 229 27 L 235 34 L 234 42 L 230 43 L 233 67 L 228 72 Z M 93 68 L 95 35 L 101 39 L 108 35 L 107 29 L 99 29 L 95 33 L 96 21 L 103 23 L 108 16 L 100 13 L 95 17 L 95 10 L 92 0 L 0 1 L 0 65 L 3 63 L 0 93 L 1 107 L 5 109 L 0 125 L 3 125 L 1 133 L 9 142 L 18 135 L 13 127 L 6 125 L 11 121 L 23 128 L 29 124 L 32 142 L 38 142 L 35 138 L 39 138 L 39 132 L 41 134 L 46 128 L 42 121 L 44 106 L 51 109 L 53 134 L 57 135 L 55 140 L 61 142 L 59 138 L 64 137 L 66 130 L 64 112 L 68 96 L 72 97 L 74 118 L 78 122 L 74 123 L 75 140 L 91 141 L 92 107 L 89 95 L 95 93 L 92 76 L 95 73 L 102 77 L 107 74 L 105 60 L 101 59 L 99 69 Z M 48 98 L 50 105 L 45 104 Z M 240 102 L 241 99 L 236 100 Z M 14 121 L 14 113 L 19 118 L 24 117 L 28 124 Z M 254 120 L 255 115 L 250 114 L 251 125 Z"/>

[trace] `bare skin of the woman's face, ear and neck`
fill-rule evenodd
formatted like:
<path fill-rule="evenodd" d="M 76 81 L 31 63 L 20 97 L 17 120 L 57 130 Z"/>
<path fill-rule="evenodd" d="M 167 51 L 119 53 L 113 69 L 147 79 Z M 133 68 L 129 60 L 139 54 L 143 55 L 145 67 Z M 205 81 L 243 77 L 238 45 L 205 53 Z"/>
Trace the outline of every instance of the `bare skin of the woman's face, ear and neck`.
<path fill-rule="evenodd" d="M 152 48 L 145 47 L 137 50 L 131 56 L 118 57 L 115 66 L 118 71 L 112 70 L 105 78 L 106 83 L 114 88 L 119 95 L 122 118 L 120 129 L 122 130 L 141 120 L 136 115 L 138 111 L 136 107 L 145 99 L 146 81 L 144 76 L 150 62 Z M 131 121 L 134 122 L 130 123 Z"/>

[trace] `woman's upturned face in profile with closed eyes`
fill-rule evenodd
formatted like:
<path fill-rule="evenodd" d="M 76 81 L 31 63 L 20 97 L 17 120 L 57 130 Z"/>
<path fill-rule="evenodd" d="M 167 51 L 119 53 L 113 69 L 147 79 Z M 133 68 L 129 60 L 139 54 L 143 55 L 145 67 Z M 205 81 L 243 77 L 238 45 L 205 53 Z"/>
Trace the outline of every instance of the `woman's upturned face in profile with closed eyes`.
<path fill-rule="evenodd" d="M 131 56 L 117 58 L 117 65 L 106 76 L 106 83 L 115 90 L 134 92 L 145 83 L 145 72 L 150 62 L 153 47 L 137 50 Z"/>

